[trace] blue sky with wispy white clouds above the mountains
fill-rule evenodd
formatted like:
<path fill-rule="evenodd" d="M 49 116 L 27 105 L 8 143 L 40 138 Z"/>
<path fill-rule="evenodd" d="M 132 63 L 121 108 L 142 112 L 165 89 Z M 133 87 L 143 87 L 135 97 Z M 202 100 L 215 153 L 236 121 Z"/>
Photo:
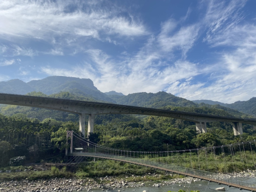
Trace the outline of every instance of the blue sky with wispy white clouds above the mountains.
<path fill-rule="evenodd" d="M 101 92 L 256 96 L 255 0 L 1 0 L 0 81 L 62 75 Z"/>

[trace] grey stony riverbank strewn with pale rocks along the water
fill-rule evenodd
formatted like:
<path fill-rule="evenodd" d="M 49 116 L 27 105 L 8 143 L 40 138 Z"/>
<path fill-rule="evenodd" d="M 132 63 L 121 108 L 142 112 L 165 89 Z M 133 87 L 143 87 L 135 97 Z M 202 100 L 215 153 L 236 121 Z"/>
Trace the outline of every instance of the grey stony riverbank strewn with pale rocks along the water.
<path fill-rule="evenodd" d="M 160 175 L 150 175 L 151 177 L 158 178 Z M 21 181 L 10 181 L 10 182 L 0 182 L 0 192 L 72 192 L 72 191 L 91 191 L 93 189 L 102 189 L 107 191 L 108 189 L 117 189 L 122 191 L 123 188 L 135 188 L 142 187 L 148 181 L 139 181 L 142 178 L 141 176 L 132 175 L 131 177 L 126 178 L 117 178 L 114 176 L 104 177 L 104 178 L 54 178 L 54 179 L 40 179 L 37 181 L 29 181 L 28 179 Z M 240 172 L 233 174 L 219 174 L 218 179 L 229 178 L 238 178 L 238 177 L 254 177 L 256 178 L 256 172 Z M 133 180 L 133 181 L 131 181 Z M 190 182 L 198 182 L 200 179 L 197 178 L 173 178 L 168 181 L 161 181 L 155 183 L 152 187 L 161 187 L 164 185 L 173 185 L 180 184 L 180 186 L 190 184 Z M 143 189 L 141 190 L 143 191 Z"/>

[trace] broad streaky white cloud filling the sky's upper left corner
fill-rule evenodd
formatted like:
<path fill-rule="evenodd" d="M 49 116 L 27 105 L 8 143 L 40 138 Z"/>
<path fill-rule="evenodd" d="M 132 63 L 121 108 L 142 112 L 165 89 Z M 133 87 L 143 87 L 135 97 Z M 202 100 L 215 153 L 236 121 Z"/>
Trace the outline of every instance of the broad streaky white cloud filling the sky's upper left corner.
<path fill-rule="evenodd" d="M 69 7 L 75 10 L 69 11 Z M 81 8 L 86 7 L 86 8 Z M 17 38 L 36 38 L 52 42 L 54 37 L 100 38 L 100 33 L 120 36 L 147 34 L 145 26 L 130 17 L 118 16 L 121 9 L 99 9 L 86 1 L 57 0 L 0 2 L 0 34 Z M 55 40 L 58 41 L 58 40 Z"/>

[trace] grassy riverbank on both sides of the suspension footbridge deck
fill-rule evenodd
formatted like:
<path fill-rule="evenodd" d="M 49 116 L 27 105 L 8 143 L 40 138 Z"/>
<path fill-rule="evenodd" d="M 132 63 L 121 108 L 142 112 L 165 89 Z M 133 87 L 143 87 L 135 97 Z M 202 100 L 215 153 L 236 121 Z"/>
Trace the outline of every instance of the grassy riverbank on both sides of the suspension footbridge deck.
<path fill-rule="evenodd" d="M 224 156 L 225 155 L 225 156 Z M 200 153 L 198 154 L 176 154 L 169 155 L 169 157 L 162 158 L 149 158 L 145 157 L 145 159 L 150 159 L 152 161 L 158 161 L 162 163 L 173 163 L 176 165 L 189 167 L 189 168 L 200 168 L 211 171 L 218 171 L 223 173 L 231 173 L 231 172 L 239 172 L 244 171 L 249 168 L 250 170 L 255 169 L 255 165 L 253 162 L 256 160 L 256 154 L 253 154 L 250 151 L 246 151 L 244 153 L 236 153 L 235 155 L 226 155 L 219 154 L 214 155 L 212 153 Z M 137 175 L 143 177 L 128 177 L 128 181 L 160 181 L 164 179 L 172 179 L 173 176 L 166 175 L 166 171 L 161 171 L 158 169 L 153 169 L 150 167 L 140 166 L 129 164 L 121 161 L 112 161 L 107 159 L 98 159 L 97 161 L 93 161 L 93 158 L 88 158 L 86 162 L 81 163 L 80 167 L 78 167 L 75 172 L 67 171 L 66 168 L 58 169 L 52 167 L 51 170 L 48 171 L 29 171 L 29 172 L 15 172 L 16 169 L 33 169 L 33 167 L 26 166 L 18 166 L 18 167 L 6 167 L 1 168 L 1 170 L 11 170 L 12 173 L 1 173 L 0 181 L 10 181 L 10 180 L 37 180 L 37 179 L 49 179 L 49 178 L 100 178 L 105 176 L 117 176 L 124 177 L 128 175 Z M 149 175 L 156 173 L 161 175 L 159 177 Z M 174 176 L 175 177 L 175 176 Z M 183 176 L 179 176 L 183 177 Z"/>

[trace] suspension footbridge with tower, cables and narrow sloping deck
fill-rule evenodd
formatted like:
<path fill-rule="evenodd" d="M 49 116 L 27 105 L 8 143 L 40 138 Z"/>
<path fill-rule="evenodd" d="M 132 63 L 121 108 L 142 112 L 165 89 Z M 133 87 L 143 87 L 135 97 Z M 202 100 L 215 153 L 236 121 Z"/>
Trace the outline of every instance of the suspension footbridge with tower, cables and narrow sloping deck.
<path fill-rule="evenodd" d="M 67 144 L 66 155 L 70 158 L 66 165 L 74 161 L 79 164 L 84 157 L 103 158 L 256 191 L 255 177 L 238 177 L 240 171 L 256 175 L 255 140 L 181 151 L 126 151 L 92 143 L 67 131 Z"/>

